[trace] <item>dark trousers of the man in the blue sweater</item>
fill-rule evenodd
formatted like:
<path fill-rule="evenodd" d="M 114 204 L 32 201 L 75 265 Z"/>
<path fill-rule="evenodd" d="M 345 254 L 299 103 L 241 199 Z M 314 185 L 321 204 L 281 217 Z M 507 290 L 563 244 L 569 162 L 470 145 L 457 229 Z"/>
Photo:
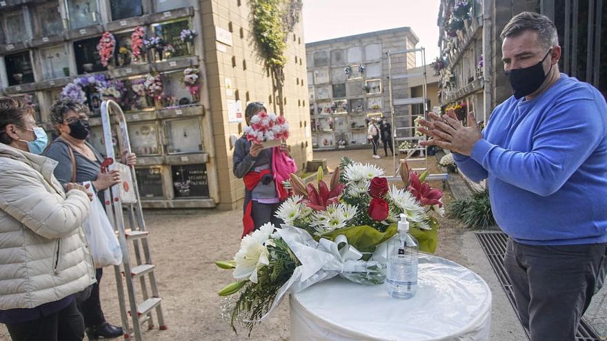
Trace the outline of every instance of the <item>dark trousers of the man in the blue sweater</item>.
<path fill-rule="evenodd" d="M 607 244 L 525 245 L 508 240 L 504 265 L 532 341 L 575 340 L 607 262 Z"/>

